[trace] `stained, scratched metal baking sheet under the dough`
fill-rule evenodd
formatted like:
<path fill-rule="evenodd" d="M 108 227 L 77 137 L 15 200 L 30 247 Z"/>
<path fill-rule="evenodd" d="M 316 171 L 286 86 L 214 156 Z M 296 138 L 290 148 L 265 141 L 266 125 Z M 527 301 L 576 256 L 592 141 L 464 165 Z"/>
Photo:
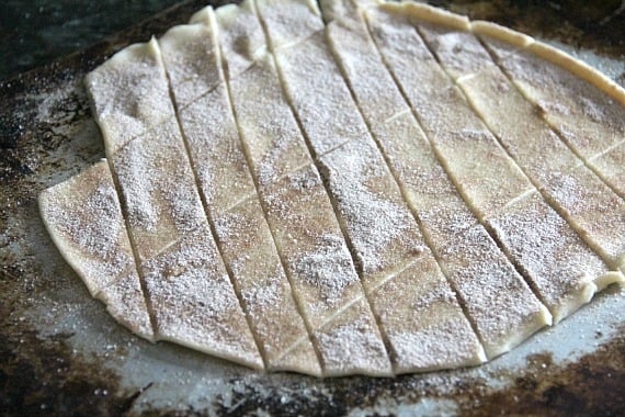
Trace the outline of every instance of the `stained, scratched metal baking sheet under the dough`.
<path fill-rule="evenodd" d="M 436 3 L 555 43 L 625 83 L 618 2 Z M 488 364 L 395 379 L 263 374 L 114 323 L 55 249 L 35 199 L 104 155 L 84 74 L 202 5 L 189 0 L 0 84 L 0 415 L 625 414 L 620 286 Z"/>

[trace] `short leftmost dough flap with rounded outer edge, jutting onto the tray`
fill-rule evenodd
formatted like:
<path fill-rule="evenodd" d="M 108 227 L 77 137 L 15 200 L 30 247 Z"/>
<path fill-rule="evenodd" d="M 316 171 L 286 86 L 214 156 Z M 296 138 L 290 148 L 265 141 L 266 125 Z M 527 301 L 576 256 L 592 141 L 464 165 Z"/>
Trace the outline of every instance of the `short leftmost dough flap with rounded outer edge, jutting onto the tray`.
<path fill-rule="evenodd" d="M 154 340 L 117 192 L 105 160 L 39 194 L 44 224 L 65 260 L 109 313 Z"/>

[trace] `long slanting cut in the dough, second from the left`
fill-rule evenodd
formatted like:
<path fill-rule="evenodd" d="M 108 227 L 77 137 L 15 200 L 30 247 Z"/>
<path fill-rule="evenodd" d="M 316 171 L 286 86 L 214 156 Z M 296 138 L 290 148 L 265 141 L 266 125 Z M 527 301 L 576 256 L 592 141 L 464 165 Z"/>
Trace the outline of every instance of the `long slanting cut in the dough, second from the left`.
<path fill-rule="evenodd" d="M 160 48 L 160 47 L 159 47 Z M 230 268 L 230 266 L 224 261 L 224 252 L 223 252 L 223 248 L 221 248 L 221 243 L 220 240 L 217 238 L 217 233 L 215 229 L 215 221 L 213 218 L 213 216 L 209 215 L 211 211 L 208 208 L 208 203 L 205 199 L 204 193 L 201 191 L 201 187 L 200 187 L 200 176 L 197 174 L 197 169 L 196 169 L 196 165 L 193 161 L 193 156 L 191 154 L 191 146 L 189 144 L 189 138 L 186 137 L 186 134 L 184 132 L 184 128 L 182 127 L 182 122 L 180 120 L 180 111 L 178 109 L 178 103 L 175 102 L 175 99 L 173 97 L 173 88 L 172 88 L 172 82 L 171 82 L 171 78 L 169 75 L 169 71 L 167 70 L 166 66 L 162 64 L 162 61 L 160 63 L 160 65 L 162 65 L 163 71 L 167 76 L 167 83 L 168 83 L 168 91 L 169 91 L 169 99 L 171 101 L 171 104 L 173 106 L 173 111 L 175 114 L 175 123 L 178 125 L 178 129 L 180 131 L 180 135 L 182 137 L 182 142 L 184 144 L 184 150 L 186 153 L 186 158 L 189 160 L 189 164 L 191 166 L 191 170 L 193 172 L 193 177 L 195 180 L 195 188 L 197 190 L 197 194 L 200 195 L 200 200 L 202 201 L 202 207 L 204 208 L 204 215 L 206 216 L 206 219 L 208 222 L 208 226 L 211 228 L 211 234 L 213 235 L 213 239 L 216 243 L 216 247 L 217 247 L 217 251 L 219 252 L 219 258 L 221 259 L 221 262 L 224 262 L 224 266 L 226 268 L 226 272 L 228 273 L 228 279 L 230 280 L 230 284 L 232 285 L 232 289 L 235 291 L 235 294 L 237 294 L 237 301 L 239 302 L 239 306 L 241 307 L 241 311 L 243 311 L 246 313 L 246 322 L 248 324 L 249 330 L 252 335 L 254 335 L 254 343 L 257 346 L 257 349 L 259 352 L 262 352 L 261 349 L 261 345 L 259 343 L 259 341 L 255 338 L 255 331 L 252 327 L 251 324 L 251 318 L 247 312 L 247 309 L 245 308 L 245 303 L 243 303 L 243 298 L 239 289 L 239 285 L 237 285 L 237 282 L 235 280 L 235 275 L 232 273 L 232 270 Z M 214 90 L 215 88 L 217 88 L 217 86 L 214 86 L 213 88 L 211 88 L 211 91 Z M 209 91 L 208 91 L 209 92 Z M 207 93 L 208 93 L 207 92 Z M 263 361 L 263 367 L 266 369 L 266 360 L 264 354 L 261 354 L 262 361 Z"/>

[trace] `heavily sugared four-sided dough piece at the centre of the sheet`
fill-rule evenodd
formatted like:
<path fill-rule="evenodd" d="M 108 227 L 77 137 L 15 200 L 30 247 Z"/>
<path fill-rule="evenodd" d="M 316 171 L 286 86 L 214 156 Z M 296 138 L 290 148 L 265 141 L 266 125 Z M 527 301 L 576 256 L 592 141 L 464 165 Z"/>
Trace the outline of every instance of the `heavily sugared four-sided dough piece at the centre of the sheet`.
<path fill-rule="evenodd" d="M 367 275 L 423 250 L 417 223 L 371 138 L 351 142 L 319 161 L 365 285 Z"/>

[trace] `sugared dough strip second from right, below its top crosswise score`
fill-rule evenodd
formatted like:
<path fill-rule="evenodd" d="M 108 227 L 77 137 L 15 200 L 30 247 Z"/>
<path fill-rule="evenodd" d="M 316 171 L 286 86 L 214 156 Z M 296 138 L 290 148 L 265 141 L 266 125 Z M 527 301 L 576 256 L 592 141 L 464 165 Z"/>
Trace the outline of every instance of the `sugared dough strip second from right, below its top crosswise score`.
<path fill-rule="evenodd" d="M 447 63 L 443 61 L 443 65 Z M 468 87 L 465 88 L 465 81 L 461 84 L 471 104 L 535 187 L 556 210 L 564 212 L 571 226 L 613 268 L 620 268 L 620 258 L 625 253 L 625 226 L 622 226 L 625 224 L 625 202 L 586 166 L 575 168 L 580 165 L 578 156 L 515 88 L 501 92 L 493 87 L 493 81 L 499 80 L 511 84 L 499 68 L 489 67 L 488 71 L 467 80 Z M 567 174 L 560 174 L 560 170 Z M 589 205 L 596 210 L 589 210 Z M 604 213 L 601 226 L 595 224 L 598 213 Z"/>

